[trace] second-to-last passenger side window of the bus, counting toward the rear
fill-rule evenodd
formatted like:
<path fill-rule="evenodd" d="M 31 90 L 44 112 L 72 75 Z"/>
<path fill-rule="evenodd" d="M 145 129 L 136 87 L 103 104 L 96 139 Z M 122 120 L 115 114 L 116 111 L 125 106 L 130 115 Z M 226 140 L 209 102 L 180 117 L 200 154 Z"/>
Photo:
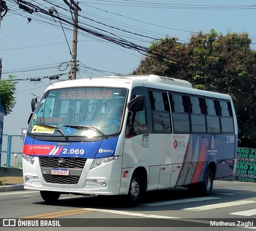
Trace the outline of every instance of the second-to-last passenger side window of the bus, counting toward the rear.
<path fill-rule="evenodd" d="M 216 100 L 205 99 L 205 103 L 208 133 L 220 133 L 220 119 Z"/>

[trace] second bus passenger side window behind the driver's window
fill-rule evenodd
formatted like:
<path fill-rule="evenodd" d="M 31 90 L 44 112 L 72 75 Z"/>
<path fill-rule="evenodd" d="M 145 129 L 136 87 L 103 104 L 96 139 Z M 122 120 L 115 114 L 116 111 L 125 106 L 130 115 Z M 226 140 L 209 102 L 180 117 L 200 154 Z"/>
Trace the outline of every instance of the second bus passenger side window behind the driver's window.
<path fill-rule="evenodd" d="M 169 99 L 172 108 L 173 132 L 176 134 L 190 133 L 188 105 L 186 96 L 170 94 Z"/>

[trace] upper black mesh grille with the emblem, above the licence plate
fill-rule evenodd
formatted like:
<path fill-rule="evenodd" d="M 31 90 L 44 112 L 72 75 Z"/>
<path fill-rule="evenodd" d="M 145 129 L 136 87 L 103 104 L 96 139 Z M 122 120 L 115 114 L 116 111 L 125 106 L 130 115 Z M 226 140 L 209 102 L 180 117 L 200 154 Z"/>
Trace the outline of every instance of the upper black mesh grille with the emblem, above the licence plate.
<path fill-rule="evenodd" d="M 39 157 L 41 167 L 83 169 L 85 158 L 72 157 Z"/>

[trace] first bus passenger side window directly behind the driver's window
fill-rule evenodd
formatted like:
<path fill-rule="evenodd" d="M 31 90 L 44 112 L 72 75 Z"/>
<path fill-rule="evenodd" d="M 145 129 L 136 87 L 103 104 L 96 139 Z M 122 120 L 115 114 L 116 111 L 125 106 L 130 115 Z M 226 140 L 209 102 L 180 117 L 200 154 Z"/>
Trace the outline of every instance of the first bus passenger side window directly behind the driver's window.
<path fill-rule="evenodd" d="M 171 133 L 170 106 L 166 92 L 150 91 L 154 132 Z"/>

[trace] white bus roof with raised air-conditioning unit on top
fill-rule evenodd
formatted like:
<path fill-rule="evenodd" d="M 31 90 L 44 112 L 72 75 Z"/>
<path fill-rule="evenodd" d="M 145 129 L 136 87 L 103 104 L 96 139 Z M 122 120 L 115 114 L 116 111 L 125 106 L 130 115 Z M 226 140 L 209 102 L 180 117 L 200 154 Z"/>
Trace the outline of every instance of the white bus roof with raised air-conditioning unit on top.
<path fill-rule="evenodd" d="M 174 78 L 167 78 L 156 75 L 138 75 L 138 76 L 104 76 L 92 79 L 80 79 L 72 81 L 63 81 L 51 84 L 47 89 L 81 87 L 81 86 L 106 86 L 106 87 L 120 87 L 120 88 L 134 88 L 136 86 L 145 86 L 148 88 L 156 88 L 162 90 L 169 90 L 174 92 L 181 92 L 187 94 L 196 94 L 200 96 L 208 96 L 214 98 L 223 98 L 230 100 L 231 97 L 227 94 L 216 92 L 209 92 L 205 90 L 198 90 L 192 88 L 192 85 L 186 80 L 179 80 Z"/>

